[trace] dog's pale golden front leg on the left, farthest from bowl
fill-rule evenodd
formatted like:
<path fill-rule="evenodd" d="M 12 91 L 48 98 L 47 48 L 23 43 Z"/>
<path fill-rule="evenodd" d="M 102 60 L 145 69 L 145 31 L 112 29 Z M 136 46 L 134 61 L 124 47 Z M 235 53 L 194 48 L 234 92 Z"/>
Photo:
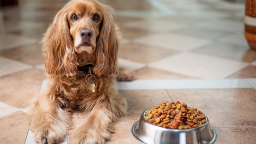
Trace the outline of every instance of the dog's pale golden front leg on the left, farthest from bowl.
<path fill-rule="evenodd" d="M 59 143 L 64 140 L 71 126 L 69 111 L 59 106 L 57 98 L 49 93 L 40 93 L 31 106 L 29 129 L 34 133 L 34 141 L 40 144 Z"/>

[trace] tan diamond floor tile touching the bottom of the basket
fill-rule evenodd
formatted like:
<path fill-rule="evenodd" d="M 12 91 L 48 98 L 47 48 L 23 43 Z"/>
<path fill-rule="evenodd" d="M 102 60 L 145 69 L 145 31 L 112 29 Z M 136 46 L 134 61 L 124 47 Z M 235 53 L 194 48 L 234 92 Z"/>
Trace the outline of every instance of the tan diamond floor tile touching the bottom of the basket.
<path fill-rule="evenodd" d="M 232 60 L 239 60 L 248 63 L 256 60 L 256 51 L 249 49 L 248 46 L 238 46 L 215 42 L 207 46 L 194 49 L 193 52 L 202 53 L 209 56 L 229 58 Z"/>

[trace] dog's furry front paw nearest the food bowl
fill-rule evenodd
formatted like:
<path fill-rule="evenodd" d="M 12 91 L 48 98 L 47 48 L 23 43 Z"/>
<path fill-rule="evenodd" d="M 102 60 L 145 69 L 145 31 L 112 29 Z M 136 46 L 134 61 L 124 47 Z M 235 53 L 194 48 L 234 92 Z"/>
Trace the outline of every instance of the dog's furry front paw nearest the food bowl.
<path fill-rule="evenodd" d="M 110 132 L 107 130 L 97 130 L 97 128 L 75 129 L 71 135 L 73 144 L 104 144 L 110 139 Z"/>

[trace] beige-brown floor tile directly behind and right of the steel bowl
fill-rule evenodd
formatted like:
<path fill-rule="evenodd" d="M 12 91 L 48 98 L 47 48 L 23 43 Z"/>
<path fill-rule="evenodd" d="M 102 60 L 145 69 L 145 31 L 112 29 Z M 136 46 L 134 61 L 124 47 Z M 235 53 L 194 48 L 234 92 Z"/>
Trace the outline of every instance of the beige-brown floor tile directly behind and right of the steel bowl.
<path fill-rule="evenodd" d="M 213 128 L 256 126 L 252 111 L 256 109 L 255 89 L 168 90 L 168 93 L 174 101 L 206 114 Z"/>

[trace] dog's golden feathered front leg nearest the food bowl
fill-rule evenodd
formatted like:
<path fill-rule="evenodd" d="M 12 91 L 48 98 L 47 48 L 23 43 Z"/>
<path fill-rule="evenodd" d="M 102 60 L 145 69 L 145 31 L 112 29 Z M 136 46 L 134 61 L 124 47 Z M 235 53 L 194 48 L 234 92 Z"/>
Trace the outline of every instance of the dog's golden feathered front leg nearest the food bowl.
<path fill-rule="evenodd" d="M 72 137 L 73 144 L 104 144 L 113 132 L 111 124 L 118 116 L 126 114 L 127 104 L 123 98 L 95 103 L 87 118 L 77 125 Z"/>

